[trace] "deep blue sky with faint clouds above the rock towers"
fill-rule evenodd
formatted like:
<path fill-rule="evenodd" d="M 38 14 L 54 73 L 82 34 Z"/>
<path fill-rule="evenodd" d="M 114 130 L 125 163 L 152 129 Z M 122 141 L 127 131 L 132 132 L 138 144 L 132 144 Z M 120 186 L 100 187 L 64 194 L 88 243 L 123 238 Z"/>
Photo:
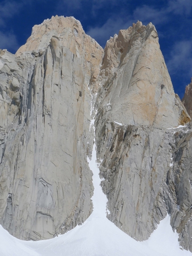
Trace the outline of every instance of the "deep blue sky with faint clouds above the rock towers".
<path fill-rule="evenodd" d="M 152 22 L 175 89 L 182 98 L 192 77 L 192 0 L 0 0 L 0 48 L 12 53 L 33 25 L 73 16 L 101 45 L 133 22 Z"/>

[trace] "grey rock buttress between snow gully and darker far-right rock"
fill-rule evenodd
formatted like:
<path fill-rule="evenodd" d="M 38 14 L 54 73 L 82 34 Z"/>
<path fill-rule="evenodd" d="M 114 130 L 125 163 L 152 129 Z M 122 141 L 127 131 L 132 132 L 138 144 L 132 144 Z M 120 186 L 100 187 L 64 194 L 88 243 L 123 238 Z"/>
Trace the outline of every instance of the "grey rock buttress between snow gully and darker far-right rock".
<path fill-rule="evenodd" d="M 100 171 L 109 200 L 108 218 L 142 241 L 167 215 L 163 181 L 171 162 L 169 134 L 149 126 L 113 122 L 106 122 L 104 128 L 98 134 L 103 138 L 98 143 L 98 156 L 103 159 Z"/>

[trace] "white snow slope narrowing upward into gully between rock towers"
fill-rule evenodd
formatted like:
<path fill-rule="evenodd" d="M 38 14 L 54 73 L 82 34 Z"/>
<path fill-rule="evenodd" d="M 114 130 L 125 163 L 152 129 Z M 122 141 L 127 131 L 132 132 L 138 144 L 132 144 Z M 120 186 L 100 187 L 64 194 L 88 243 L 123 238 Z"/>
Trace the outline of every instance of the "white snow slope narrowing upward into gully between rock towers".
<path fill-rule="evenodd" d="M 88 162 L 94 185 L 94 209 L 89 218 L 64 235 L 36 242 L 16 239 L 0 226 L 0 256 L 192 256 L 179 249 L 178 234 L 172 231 L 169 215 L 144 242 L 135 241 L 110 222 L 106 218 L 107 198 L 100 187 L 95 144 Z"/>

